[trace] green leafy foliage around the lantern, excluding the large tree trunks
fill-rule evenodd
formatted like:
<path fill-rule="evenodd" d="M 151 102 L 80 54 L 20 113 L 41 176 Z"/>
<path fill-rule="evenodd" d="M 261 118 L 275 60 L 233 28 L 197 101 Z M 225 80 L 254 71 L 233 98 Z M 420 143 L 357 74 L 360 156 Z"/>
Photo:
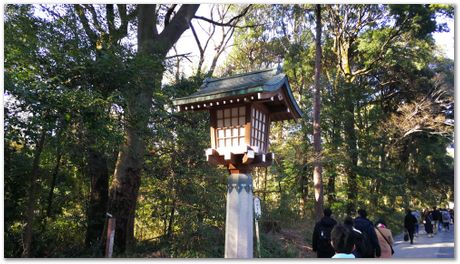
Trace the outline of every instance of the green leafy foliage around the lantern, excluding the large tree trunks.
<path fill-rule="evenodd" d="M 37 10 L 48 17 L 41 18 Z M 103 19 L 104 6 L 96 10 Z M 160 15 L 166 10 L 162 6 Z M 453 197 L 454 161 L 446 147 L 453 135 L 448 123 L 454 118 L 454 62 L 436 55 L 431 35 L 446 29 L 435 18 L 452 17 L 453 6 L 324 5 L 323 10 L 325 206 L 338 220 L 345 217 L 352 172 L 354 205 L 366 207 L 371 220 L 384 217 L 397 234 L 406 206 L 421 209 Z M 362 24 L 360 13 L 368 18 Z M 172 99 L 196 91 L 203 77 L 161 84 L 161 76 L 153 73 L 168 66 L 136 55 L 128 38 L 101 49 L 92 47 L 82 37 L 84 29 L 71 5 L 7 5 L 4 17 L 5 256 L 22 253 L 30 172 L 43 131 L 33 256 L 97 255 L 84 247 L 91 193 L 88 152 L 100 152 L 111 175 L 123 129 L 132 124 L 127 102 L 139 99 L 139 93 L 131 92 L 154 87 L 152 108 L 137 112 L 148 120 L 148 127 L 141 130 L 146 153 L 140 158 L 136 241 L 125 254 L 115 256 L 223 257 L 228 172 L 205 160 L 209 115 L 177 113 L 172 105 Z M 258 4 L 244 20 L 250 27 L 237 29 L 219 75 L 274 67 L 283 60 L 304 112 L 297 122 L 271 126 L 275 162 L 267 170 L 253 171 L 254 193 L 262 200 L 261 222 L 276 223 L 281 230 L 301 229 L 308 242 L 315 203 L 312 8 Z M 348 52 L 346 57 L 337 50 L 338 43 L 348 45 L 341 51 Z M 348 73 L 345 64 L 350 66 Z M 403 111 L 403 106 L 414 106 L 413 110 L 424 104 L 426 112 L 409 116 Z M 264 258 L 299 256 L 299 248 L 279 234 L 261 232 L 261 240 Z"/>

